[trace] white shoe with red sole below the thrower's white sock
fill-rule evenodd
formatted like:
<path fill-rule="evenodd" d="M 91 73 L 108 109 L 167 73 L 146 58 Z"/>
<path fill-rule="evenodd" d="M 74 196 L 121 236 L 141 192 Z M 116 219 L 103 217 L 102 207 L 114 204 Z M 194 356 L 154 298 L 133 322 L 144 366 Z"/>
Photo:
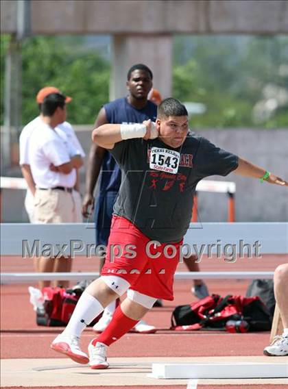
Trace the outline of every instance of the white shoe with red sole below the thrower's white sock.
<path fill-rule="evenodd" d="M 80 349 L 80 338 L 73 335 L 58 335 L 50 344 L 51 349 L 67 355 L 71 360 L 78 364 L 88 364 L 89 358 L 86 353 Z"/>

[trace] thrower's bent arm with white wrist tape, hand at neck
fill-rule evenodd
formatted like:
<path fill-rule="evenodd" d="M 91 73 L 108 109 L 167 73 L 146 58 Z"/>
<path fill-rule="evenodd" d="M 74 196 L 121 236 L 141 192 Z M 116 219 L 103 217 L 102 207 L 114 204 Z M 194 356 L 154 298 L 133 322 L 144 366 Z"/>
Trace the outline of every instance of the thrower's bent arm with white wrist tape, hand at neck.
<path fill-rule="evenodd" d="M 150 120 L 134 124 L 105 124 L 93 130 L 92 140 L 96 145 L 105 147 L 105 149 L 113 149 L 115 143 L 121 142 L 121 140 L 152 138 L 151 130 L 152 122 Z"/>

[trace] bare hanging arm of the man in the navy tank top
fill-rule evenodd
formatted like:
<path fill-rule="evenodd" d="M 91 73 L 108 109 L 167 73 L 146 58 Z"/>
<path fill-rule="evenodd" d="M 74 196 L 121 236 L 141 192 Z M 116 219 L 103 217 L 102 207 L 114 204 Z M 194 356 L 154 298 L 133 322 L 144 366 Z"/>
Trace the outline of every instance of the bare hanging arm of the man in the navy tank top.
<path fill-rule="evenodd" d="M 104 108 L 101 108 L 99 114 L 95 120 L 94 127 L 99 127 L 108 123 L 106 112 Z M 106 153 L 106 149 L 92 143 L 91 149 L 88 155 L 88 164 L 86 170 L 86 184 L 85 184 L 85 194 L 82 203 L 82 214 L 85 218 L 88 217 L 89 212 L 88 208 L 92 206 L 92 210 L 94 208 L 94 188 L 99 177 L 99 173 L 101 170 L 102 162 L 104 159 L 104 155 Z"/>

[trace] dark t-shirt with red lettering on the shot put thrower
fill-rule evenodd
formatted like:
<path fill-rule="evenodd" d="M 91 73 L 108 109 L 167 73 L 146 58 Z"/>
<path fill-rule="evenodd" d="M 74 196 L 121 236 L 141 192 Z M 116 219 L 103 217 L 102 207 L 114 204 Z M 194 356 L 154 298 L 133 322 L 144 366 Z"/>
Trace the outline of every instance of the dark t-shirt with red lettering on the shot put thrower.
<path fill-rule="evenodd" d="M 122 171 L 114 214 L 161 243 L 179 242 L 186 234 L 197 183 L 238 166 L 237 155 L 192 132 L 178 149 L 158 138 L 137 138 L 118 142 L 110 152 Z"/>

